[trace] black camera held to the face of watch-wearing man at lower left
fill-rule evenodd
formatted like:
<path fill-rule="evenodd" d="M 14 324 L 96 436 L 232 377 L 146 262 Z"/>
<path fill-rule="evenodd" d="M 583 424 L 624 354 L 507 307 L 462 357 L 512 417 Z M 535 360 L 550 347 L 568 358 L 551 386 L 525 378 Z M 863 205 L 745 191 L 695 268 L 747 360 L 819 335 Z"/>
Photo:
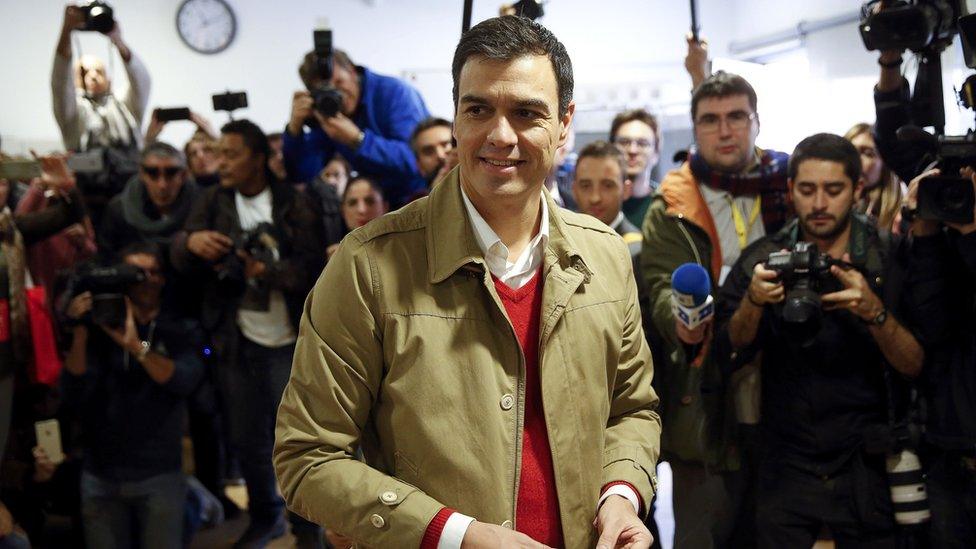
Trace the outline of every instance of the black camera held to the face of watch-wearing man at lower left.
<path fill-rule="evenodd" d="M 68 281 L 69 295 L 91 292 L 91 321 L 110 328 L 121 328 L 125 325 L 125 292 L 129 286 L 146 278 L 145 271 L 127 263 L 110 267 L 87 265 Z"/>

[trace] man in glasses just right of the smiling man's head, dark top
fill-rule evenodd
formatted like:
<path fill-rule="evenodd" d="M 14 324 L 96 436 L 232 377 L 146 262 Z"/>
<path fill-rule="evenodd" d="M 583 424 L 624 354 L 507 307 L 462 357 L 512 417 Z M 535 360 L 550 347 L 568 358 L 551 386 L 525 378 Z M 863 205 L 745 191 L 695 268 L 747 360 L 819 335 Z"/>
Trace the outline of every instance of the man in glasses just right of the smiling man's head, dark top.
<path fill-rule="evenodd" d="M 620 149 L 627 161 L 627 179 L 631 195 L 624 200 L 623 212 L 627 220 L 640 227 L 651 205 L 651 195 L 658 183 L 651 179 L 661 153 L 661 132 L 657 118 L 644 109 L 624 111 L 610 124 L 610 141 Z"/>

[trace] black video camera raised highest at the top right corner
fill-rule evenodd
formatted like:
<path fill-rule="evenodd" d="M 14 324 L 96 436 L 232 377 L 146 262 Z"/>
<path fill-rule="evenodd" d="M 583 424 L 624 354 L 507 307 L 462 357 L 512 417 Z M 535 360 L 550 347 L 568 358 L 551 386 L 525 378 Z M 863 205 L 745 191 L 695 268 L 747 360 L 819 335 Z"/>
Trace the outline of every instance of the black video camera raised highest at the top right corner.
<path fill-rule="evenodd" d="M 942 51 L 956 34 L 958 2 L 947 0 L 898 0 L 875 13 L 877 0 L 861 8 L 861 40 L 869 51 Z"/>

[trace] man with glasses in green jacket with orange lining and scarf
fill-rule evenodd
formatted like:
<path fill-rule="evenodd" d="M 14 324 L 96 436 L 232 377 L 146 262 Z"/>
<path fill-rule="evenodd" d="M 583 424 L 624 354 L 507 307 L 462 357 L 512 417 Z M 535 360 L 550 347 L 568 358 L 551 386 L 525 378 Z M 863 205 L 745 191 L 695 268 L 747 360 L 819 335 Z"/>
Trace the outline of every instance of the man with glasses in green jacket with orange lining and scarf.
<path fill-rule="evenodd" d="M 647 284 L 654 336 L 663 348 L 655 387 L 661 391 L 662 456 L 674 478 L 675 547 L 752 546 L 754 496 L 745 493 L 758 422 L 756 370 L 731 381 L 735 420 L 706 425 L 705 411 L 725 407 L 725 394 L 708 389 L 711 321 L 688 329 L 671 307 L 671 273 L 698 263 L 712 291 L 742 250 L 777 231 L 789 217 L 788 155 L 756 148 L 756 92 L 742 77 L 717 72 L 691 99 L 696 147 L 667 174 L 643 222 L 641 269 Z M 703 392 L 702 388 L 706 391 Z M 707 402 L 702 396 L 714 397 Z M 709 417 L 714 415 L 709 414 Z M 738 430 L 723 430 L 738 425 Z M 726 474 L 725 471 L 735 471 Z M 741 519 L 739 518 L 741 517 Z"/>

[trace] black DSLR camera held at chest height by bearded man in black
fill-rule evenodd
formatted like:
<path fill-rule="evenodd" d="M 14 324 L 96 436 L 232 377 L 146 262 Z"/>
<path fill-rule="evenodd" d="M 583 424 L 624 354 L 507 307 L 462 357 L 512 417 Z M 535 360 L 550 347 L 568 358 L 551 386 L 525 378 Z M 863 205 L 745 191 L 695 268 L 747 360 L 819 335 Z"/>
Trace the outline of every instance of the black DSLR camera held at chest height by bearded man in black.
<path fill-rule="evenodd" d="M 842 289 L 830 273 L 833 265 L 848 266 L 817 250 L 812 242 L 797 242 L 793 249 L 773 252 L 766 268 L 776 271 L 786 289 L 779 315 L 788 327 L 801 335 L 801 341 L 812 343 L 823 322 L 820 296 Z"/>

